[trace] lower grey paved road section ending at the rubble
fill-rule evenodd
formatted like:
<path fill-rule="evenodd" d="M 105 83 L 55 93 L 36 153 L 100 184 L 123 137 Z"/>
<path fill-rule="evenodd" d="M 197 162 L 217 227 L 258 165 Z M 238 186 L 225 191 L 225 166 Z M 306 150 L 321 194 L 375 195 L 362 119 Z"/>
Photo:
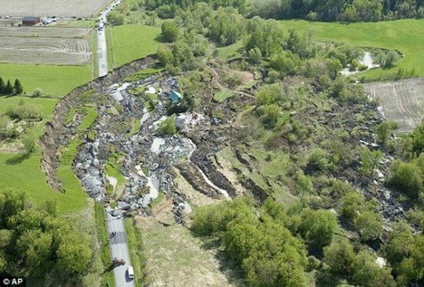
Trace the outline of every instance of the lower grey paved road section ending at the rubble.
<path fill-rule="evenodd" d="M 108 213 L 109 234 L 112 232 L 116 233 L 115 236 L 110 237 L 110 250 L 112 251 L 112 258 L 122 258 L 126 261 L 125 265 L 116 266 L 113 269 L 113 273 L 115 275 L 115 286 L 135 287 L 134 280 L 129 279 L 126 273 L 126 267 L 131 266 L 131 258 L 129 257 L 128 244 L 126 242 L 124 218 L 111 216 L 110 209 L 106 209 L 106 212 Z"/>

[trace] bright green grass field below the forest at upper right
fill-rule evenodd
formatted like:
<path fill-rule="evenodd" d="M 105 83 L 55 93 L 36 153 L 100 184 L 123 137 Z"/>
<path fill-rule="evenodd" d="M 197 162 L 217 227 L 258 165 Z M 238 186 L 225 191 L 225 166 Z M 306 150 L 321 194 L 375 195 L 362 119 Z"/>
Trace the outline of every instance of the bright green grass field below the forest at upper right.
<path fill-rule="evenodd" d="M 380 74 L 394 73 L 399 68 L 415 68 L 417 76 L 424 76 L 424 19 L 360 23 L 325 23 L 309 21 L 281 21 L 284 29 L 312 31 L 315 40 L 347 43 L 349 45 L 399 50 L 404 58 L 389 70 L 374 69 L 362 73 L 376 79 Z"/>

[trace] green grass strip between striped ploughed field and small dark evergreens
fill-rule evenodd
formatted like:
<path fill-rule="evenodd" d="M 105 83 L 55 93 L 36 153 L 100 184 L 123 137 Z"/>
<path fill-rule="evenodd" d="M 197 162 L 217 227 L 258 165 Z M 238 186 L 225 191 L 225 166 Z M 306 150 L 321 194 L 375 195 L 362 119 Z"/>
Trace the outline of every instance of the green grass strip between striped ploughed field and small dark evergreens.
<path fill-rule="evenodd" d="M 0 64 L 0 77 L 11 82 L 20 79 L 24 91 L 32 94 L 39 87 L 43 94 L 62 97 L 76 86 L 86 84 L 92 79 L 91 66 L 54 66 Z"/>

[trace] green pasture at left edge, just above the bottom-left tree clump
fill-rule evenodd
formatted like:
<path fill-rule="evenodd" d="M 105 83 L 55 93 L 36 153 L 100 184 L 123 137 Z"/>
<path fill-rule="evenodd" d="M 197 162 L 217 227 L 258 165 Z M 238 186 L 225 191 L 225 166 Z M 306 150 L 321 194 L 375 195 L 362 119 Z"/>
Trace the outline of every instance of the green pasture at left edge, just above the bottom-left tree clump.
<path fill-rule="evenodd" d="M 29 201 L 36 205 L 47 200 L 56 201 L 61 213 L 73 213 L 86 208 L 87 195 L 81 188 L 69 189 L 66 193 L 50 188 L 40 169 L 40 160 L 39 153 L 29 156 L 0 153 L 0 188 L 24 191 L 28 193 Z M 68 185 L 68 182 L 63 184 Z M 77 184 L 80 186 L 79 182 Z"/>

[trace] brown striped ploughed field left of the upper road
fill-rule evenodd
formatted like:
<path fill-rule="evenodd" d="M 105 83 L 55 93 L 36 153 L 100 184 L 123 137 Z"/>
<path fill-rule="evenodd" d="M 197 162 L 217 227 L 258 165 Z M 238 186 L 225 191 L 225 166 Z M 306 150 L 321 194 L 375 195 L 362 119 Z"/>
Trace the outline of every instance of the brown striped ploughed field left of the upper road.
<path fill-rule="evenodd" d="M 92 29 L 0 27 L 0 62 L 84 65 L 92 56 Z"/>

